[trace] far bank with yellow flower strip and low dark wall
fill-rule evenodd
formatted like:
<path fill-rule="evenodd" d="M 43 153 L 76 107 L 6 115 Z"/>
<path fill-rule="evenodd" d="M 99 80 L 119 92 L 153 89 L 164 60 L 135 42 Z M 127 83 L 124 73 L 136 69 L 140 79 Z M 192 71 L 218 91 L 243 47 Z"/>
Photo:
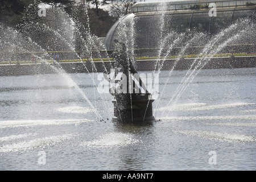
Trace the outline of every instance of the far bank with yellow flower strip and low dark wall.
<path fill-rule="evenodd" d="M 190 69 L 191 65 L 197 58 L 186 57 L 177 61 L 173 59 L 144 59 L 137 60 L 137 71 L 154 71 L 156 61 L 162 64 L 161 70 L 171 70 L 174 65 L 174 70 Z M 208 59 L 208 58 L 207 58 Z M 203 60 L 200 57 L 198 60 Z M 64 63 L 26 63 L 26 64 L 0 64 L 0 76 L 20 76 L 20 75 L 42 75 L 57 73 L 56 67 L 61 67 L 67 73 L 88 73 L 88 72 L 104 72 L 105 69 L 110 71 L 114 61 L 94 61 L 95 68 L 91 62 L 64 62 Z M 196 64 L 197 65 L 197 62 Z M 254 68 L 256 67 L 256 56 L 234 56 L 231 57 L 211 57 L 208 63 L 202 69 L 221 69 L 221 68 Z M 195 66 L 192 67 L 194 69 Z M 158 69 L 158 68 L 156 68 Z M 97 71 L 96 71 L 97 70 Z"/>

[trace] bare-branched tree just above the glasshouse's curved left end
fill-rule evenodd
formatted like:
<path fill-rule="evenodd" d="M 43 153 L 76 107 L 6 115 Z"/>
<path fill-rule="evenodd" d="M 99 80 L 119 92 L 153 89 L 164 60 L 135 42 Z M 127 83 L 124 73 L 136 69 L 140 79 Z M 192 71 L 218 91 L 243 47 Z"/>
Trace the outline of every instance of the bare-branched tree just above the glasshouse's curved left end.
<path fill-rule="evenodd" d="M 136 0 L 113 0 L 110 6 L 110 15 L 115 18 L 119 16 L 127 15 L 131 13 L 131 6 L 133 6 Z"/>

